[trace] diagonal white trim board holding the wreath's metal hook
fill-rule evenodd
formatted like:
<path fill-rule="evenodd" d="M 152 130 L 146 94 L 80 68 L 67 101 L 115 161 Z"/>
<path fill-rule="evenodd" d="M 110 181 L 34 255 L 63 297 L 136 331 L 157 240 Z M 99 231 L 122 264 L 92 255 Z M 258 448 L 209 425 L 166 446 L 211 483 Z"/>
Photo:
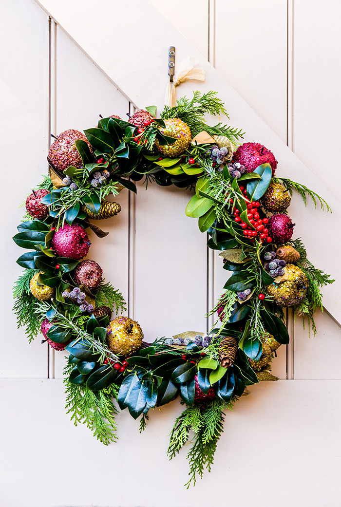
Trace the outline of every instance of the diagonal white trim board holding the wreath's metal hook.
<path fill-rule="evenodd" d="M 293 199 L 290 210 L 296 220 L 305 217 L 305 223 L 296 225 L 295 236 L 304 238 L 311 261 L 340 279 L 337 249 L 328 248 L 327 257 L 325 245 L 330 231 L 338 230 L 341 203 L 149 0 L 101 0 L 95 9 L 90 0 L 37 3 L 136 107 L 151 104 L 162 107 L 169 45 L 177 48 L 177 62 L 187 56 L 195 57 L 206 70 L 206 81 L 185 83 L 178 89 L 178 95 L 191 94 L 193 88 L 216 90 L 226 104 L 231 125 L 245 129 L 245 140 L 260 141 L 276 154 L 280 175 L 304 183 L 327 200 L 333 210 L 331 215 L 315 211 L 311 203 L 305 211 L 299 198 Z M 127 37 L 131 31 L 127 29 L 128 20 L 133 27 L 131 37 Z M 309 225 L 313 211 L 314 225 L 312 222 Z M 325 287 L 323 292 L 326 310 L 336 322 L 341 322 L 338 282 Z"/>

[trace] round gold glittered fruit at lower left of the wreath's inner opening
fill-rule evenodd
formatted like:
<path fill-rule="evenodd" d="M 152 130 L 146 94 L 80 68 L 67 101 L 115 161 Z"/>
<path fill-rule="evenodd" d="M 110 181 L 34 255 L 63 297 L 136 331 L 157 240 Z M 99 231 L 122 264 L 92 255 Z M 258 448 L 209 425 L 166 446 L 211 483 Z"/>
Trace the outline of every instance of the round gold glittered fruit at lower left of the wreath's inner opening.
<path fill-rule="evenodd" d="M 112 352 L 127 356 L 142 347 L 143 332 L 135 320 L 116 317 L 109 322 L 106 341 Z"/>

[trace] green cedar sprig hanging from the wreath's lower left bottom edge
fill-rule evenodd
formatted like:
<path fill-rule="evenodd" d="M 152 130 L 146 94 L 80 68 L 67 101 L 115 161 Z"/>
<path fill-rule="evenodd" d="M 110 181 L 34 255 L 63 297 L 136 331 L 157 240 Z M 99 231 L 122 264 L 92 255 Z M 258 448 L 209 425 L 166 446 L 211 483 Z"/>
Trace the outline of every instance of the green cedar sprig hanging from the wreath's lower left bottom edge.
<path fill-rule="evenodd" d="M 101 443 L 108 445 L 117 441 L 115 415 L 118 410 L 114 399 L 117 398 L 118 386 L 110 384 L 94 392 L 82 385 L 72 384 L 69 376 L 73 367 L 74 365 L 65 365 L 63 370 L 66 414 L 71 415 L 75 426 L 79 423 L 86 424 Z"/>

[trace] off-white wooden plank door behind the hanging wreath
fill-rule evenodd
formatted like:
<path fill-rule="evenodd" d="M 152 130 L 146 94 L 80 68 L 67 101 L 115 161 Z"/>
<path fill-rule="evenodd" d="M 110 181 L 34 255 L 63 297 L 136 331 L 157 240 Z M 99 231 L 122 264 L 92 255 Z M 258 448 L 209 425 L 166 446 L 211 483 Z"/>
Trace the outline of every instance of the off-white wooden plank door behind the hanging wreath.
<path fill-rule="evenodd" d="M 337 0 L 327 0 L 323 10 L 315 0 L 299 0 L 294 6 L 291 0 L 153 3 L 334 193 L 336 201 L 340 176 L 334 161 L 341 134 Z M 114 16 L 120 12 L 119 4 L 112 5 L 113 25 L 122 23 Z M 137 10 L 140 4 L 133 2 Z M 145 5 L 153 13 L 152 6 Z M 302 330 L 299 319 L 293 323 L 291 345 L 282 346 L 273 362 L 273 372 L 282 380 L 254 386 L 227 414 L 213 471 L 194 490 L 182 486 L 186 448 L 172 462 L 165 455 L 168 433 L 182 410 L 178 403 L 155 410 L 142 436 L 137 422 L 122 412 L 119 442 L 108 448 L 86 428 L 75 428 L 64 414 L 63 353 L 49 351 L 39 340 L 28 345 L 11 313 L 11 286 L 20 272 L 13 263 L 18 252 L 10 239 L 22 215 L 17 206 L 47 170 L 50 133 L 90 127 L 98 114 L 124 117 L 133 104 L 33 0 L 4 5 L 1 23 L 1 148 L 7 179 L 2 186 L 6 269 L 1 305 L 0 507 L 338 506 L 341 336 L 339 325 L 326 313 L 317 315 L 315 338 Z M 124 23 L 128 32 L 139 23 L 133 9 Z M 323 37 L 316 37 L 317 30 Z M 146 41 L 137 42 L 140 52 L 152 36 L 152 28 L 146 26 Z M 165 40 L 164 46 L 172 43 Z M 132 84 L 133 61 L 129 67 L 127 89 L 141 87 L 147 95 L 150 85 Z M 183 90 L 188 93 L 190 87 Z M 155 94 L 159 101 L 163 89 Z M 244 112 L 238 118 L 233 107 L 227 104 L 233 122 L 243 127 Z M 251 118 L 251 113 L 245 115 Z M 250 138 L 252 121 L 246 139 L 262 142 L 263 138 Z M 328 171 L 321 171 L 321 166 Z M 300 174 L 294 179 L 300 180 Z M 129 315 L 140 321 L 150 341 L 206 329 L 207 301 L 212 305 L 225 280 L 220 262 L 207 252 L 206 237 L 184 214 L 188 194 L 154 186 L 145 192 L 139 185 L 136 198 L 122 192 L 118 201 L 122 212 L 99 223 L 109 236 L 90 238 L 90 258 L 122 290 Z M 294 200 L 291 209 L 297 223 L 300 203 Z M 319 238 L 312 228 L 330 227 L 332 234 L 328 225 L 332 219 L 321 218 L 312 207 L 305 217 L 295 232 L 314 256 Z M 321 268 L 333 272 L 330 259 L 326 255 Z M 164 266 L 167 269 L 160 271 Z"/>

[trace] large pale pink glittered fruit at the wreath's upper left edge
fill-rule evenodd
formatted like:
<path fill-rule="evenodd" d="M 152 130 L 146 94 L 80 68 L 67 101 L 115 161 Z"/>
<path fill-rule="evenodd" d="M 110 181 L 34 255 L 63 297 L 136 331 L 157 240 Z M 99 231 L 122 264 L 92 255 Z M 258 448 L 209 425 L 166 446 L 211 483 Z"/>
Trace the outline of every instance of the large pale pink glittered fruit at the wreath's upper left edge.
<path fill-rule="evenodd" d="M 75 143 L 79 139 L 88 144 L 89 150 L 93 154 L 90 143 L 83 132 L 74 129 L 65 130 L 58 135 L 49 149 L 48 158 L 54 168 L 59 169 L 59 171 L 65 171 L 71 165 L 77 168 L 81 167 L 83 162 Z"/>

